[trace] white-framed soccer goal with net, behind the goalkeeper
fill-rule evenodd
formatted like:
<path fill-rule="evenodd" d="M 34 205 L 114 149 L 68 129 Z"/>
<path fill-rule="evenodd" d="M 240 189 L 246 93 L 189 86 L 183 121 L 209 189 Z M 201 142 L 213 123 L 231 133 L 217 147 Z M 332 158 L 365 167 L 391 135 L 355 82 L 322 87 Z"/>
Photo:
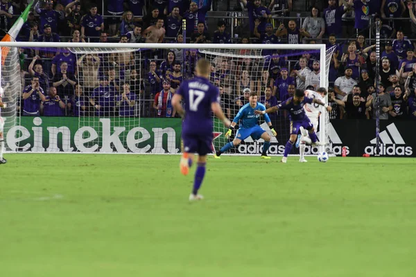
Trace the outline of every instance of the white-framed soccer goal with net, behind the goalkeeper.
<path fill-rule="evenodd" d="M 171 97 L 182 80 L 193 77 L 199 58 L 211 61 L 211 82 L 219 87 L 221 105 L 232 120 L 248 91 L 270 105 L 267 87 L 284 67 L 279 59 L 314 51 L 320 60 L 320 87 L 327 87 L 333 52 L 324 44 L 0 42 L 0 49 L 3 102 L 8 104 L 0 112 L 9 152 L 155 154 L 180 152 L 182 121 Z M 293 68 L 286 67 L 290 74 Z M 272 120 L 278 136 L 269 152 L 282 154 L 289 120 L 283 113 Z M 330 152 L 328 124 L 325 112 L 319 138 Z M 261 126 L 270 132 L 263 121 Z M 227 143 L 224 134 L 214 119 L 213 148 Z M 261 145 L 248 139 L 235 152 L 258 154 Z"/>

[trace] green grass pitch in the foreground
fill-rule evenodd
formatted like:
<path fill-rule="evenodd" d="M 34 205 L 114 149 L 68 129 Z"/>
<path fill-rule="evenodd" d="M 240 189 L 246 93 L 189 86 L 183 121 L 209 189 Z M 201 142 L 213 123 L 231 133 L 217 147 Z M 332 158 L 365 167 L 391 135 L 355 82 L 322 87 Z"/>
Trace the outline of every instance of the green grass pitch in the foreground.
<path fill-rule="evenodd" d="M 415 159 L 7 154 L 0 276 L 416 276 Z"/>

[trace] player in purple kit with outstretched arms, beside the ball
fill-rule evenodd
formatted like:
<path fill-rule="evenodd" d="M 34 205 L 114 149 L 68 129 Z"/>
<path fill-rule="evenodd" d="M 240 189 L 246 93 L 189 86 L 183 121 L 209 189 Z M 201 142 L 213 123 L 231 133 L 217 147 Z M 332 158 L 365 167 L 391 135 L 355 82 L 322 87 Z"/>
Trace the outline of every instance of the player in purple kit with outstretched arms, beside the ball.
<path fill-rule="evenodd" d="M 309 120 L 306 116 L 303 108 L 305 104 L 313 103 L 324 106 L 327 111 L 331 111 L 331 107 L 322 102 L 322 100 L 305 97 L 305 92 L 301 89 L 297 89 L 295 91 L 295 96 L 289 98 L 286 102 L 282 102 L 275 107 L 270 107 L 266 109 L 266 111 L 254 111 L 256 114 L 274 113 L 279 109 L 286 109 L 289 112 L 289 117 L 291 119 L 291 137 L 284 148 L 284 157 L 281 159 L 282 163 L 287 162 L 288 154 L 291 152 L 293 144 L 296 142 L 297 133 L 299 132 L 301 126 L 308 130 L 313 146 L 324 145 L 323 141 L 318 142 L 318 138 L 315 134 L 315 128 L 313 128 L 311 120 Z"/>

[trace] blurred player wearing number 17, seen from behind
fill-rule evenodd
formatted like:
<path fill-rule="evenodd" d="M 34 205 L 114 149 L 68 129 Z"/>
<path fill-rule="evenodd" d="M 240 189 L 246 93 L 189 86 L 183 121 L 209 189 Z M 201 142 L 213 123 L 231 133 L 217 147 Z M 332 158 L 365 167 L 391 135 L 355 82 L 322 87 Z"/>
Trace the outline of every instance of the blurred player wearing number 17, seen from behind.
<path fill-rule="evenodd" d="M 211 64 L 208 60 L 198 60 L 196 78 L 182 82 L 172 98 L 173 107 L 184 118 L 182 123 L 183 154 L 180 159 L 180 172 L 183 175 L 189 173 L 189 168 L 193 163 L 193 155 L 198 153 L 198 167 L 189 201 L 203 198 L 198 194 L 198 190 L 205 176 L 207 154 L 212 152 L 211 142 L 214 137 L 214 126 L 211 110 L 226 127 L 231 124 L 220 107 L 218 87 L 209 82 L 210 69 Z M 181 104 L 182 99 L 185 101 L 185 109 Z"/>

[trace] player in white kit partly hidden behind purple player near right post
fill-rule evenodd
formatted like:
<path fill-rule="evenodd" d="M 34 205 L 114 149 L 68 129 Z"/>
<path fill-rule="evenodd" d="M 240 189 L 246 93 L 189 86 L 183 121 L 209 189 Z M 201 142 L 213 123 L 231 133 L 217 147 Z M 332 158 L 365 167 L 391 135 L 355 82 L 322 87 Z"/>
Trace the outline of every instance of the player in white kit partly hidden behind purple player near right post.
<path fill-rule="evenodd" d="M 315 91 L 311 91 L 307 89 L 305 91 L 305 96 L 309 98 L 316 98 L 321 100 L 322 102 L 325 102 L 324 97 L 327 95 L 327 89 L 324 89 L 323 87 L 320 87 L 319 89 Z M 304 105 L 304 110 L 306 113 L 306 116 L 308 116 L 309 120 L 311 120 L 311 123 L 313 127 L 315 128 L 316 132 L 318 132 L 318 125 L 319 125 L 319 116 L 322 112 L 324 112 L 324 106 L 318 105 L 316 103 L 312 104 L 306 104 Z M 299 141 L 299 152 L 300 152 L 300 159 L 299 161 L 301 163 L 306 163 L 306 159 L 304 158 L 305 154 L 305 147 L 306 144 L 311 145 L 312 141 L 309 138 L 308 131 L 304 129 L 303 127 L 300 127 L 300 135 L 297 136 L 297 141 Z M 298 144 L 298 143 L 297 143 Z"/>

